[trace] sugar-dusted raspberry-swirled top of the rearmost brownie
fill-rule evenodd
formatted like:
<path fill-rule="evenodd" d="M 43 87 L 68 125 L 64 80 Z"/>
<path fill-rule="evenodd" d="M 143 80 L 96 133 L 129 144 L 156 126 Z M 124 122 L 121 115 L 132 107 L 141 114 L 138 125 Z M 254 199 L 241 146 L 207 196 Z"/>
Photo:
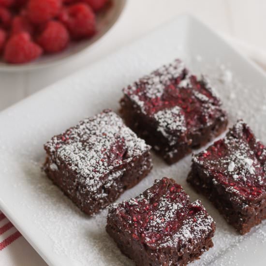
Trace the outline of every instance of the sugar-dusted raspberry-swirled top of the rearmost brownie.
<path fill-rule="evenodd" d="M 226 119 L 214 91 L 207 77 L 191 74 L 176 59 L 124 88 L 121 105 L 123 108 L 130 99 L 134 111 L 143 113 L 155 124 L 168 146 L 187 142 L 193 145 L 187 134 Z M 171 156 L 172 149 L 176 147 L 168 148 L 165 153 Z"/>

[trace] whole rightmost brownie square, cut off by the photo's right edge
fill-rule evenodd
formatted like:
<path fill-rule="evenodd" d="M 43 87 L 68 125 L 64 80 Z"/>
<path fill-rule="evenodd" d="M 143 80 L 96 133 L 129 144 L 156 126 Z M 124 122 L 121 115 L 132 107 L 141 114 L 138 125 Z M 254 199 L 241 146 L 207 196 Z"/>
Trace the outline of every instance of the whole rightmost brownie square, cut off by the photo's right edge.
<path fill-rule="evenodd" d="M 266 218 L 266 147 L 242 120 L 193 155 L 187 180 L 242 235 Z"/>

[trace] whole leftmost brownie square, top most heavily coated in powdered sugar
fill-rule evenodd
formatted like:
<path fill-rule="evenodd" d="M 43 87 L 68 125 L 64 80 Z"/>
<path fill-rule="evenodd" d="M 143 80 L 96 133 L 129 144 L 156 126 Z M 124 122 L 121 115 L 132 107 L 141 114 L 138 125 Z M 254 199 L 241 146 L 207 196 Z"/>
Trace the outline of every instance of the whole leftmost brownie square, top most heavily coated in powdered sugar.
<path fill-rule="evenodd" d="M 54 136 L 44 149 L 47 176 L 88 215 L 114 202 L 152 168 L 150 146 L 111 110 Z"/>

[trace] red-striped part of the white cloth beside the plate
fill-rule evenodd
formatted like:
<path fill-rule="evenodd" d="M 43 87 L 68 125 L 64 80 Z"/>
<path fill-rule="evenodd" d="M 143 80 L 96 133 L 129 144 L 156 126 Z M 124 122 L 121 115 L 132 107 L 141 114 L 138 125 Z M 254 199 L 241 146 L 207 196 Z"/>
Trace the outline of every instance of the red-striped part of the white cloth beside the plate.
<path fill-rule="evenodd" d="M 21 234 L 15 229 L 14 225 L 0 211 L 0 251 L 20 236 Z"/>

